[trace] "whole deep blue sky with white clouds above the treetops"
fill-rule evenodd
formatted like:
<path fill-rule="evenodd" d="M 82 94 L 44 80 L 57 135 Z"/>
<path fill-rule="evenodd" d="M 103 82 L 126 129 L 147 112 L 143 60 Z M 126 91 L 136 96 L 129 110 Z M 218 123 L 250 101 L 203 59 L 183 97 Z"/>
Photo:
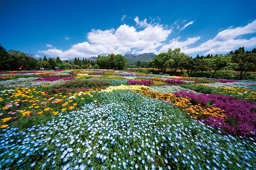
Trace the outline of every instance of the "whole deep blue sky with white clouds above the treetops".
<path fill-rule="evenodd" d="M 35 57 L 226 54 L 256 47 L 255 0 L 1 0 L 0 44 Z"/>

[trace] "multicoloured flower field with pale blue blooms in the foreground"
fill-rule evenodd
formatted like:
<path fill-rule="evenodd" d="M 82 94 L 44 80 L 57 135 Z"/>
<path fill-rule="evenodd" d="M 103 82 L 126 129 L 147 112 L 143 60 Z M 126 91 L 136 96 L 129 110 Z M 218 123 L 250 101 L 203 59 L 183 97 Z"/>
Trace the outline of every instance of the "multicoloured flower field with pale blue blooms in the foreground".
<path fill-rule="evenodd" d="M 248 80 L 2 72 L 0 119 L 0 169 L 256 169 Z"/>

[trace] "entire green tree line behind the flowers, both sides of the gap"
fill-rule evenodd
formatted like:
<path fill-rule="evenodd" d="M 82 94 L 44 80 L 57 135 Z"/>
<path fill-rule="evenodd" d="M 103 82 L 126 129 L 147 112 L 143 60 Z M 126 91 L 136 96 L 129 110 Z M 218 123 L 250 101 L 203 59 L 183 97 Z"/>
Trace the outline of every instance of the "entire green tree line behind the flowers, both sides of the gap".
<path fill-rule="evenodd" d="M 25 70 L 39 70 L 43 67 L 46 70 L 58 69 L 117 69 L 122 70 L 127 67 L 127 59 L 121 54 L 108 54 L 108 56 L 98 55 L 97 61 L 87 61 L 86 58 L 80 60 L 74 59 L 74 64 L 57 58 L 36 59 L 33 55 L 16 50 L 5 50 L 0 44 L 0 70 L 19 70 L 23 65 Z M 140 66 L 140 62 L 137 63 Z M 199 72 L 208 72 L 211 78 L 215 78 L 219 72 L 239 72 L 236 73 L 239 79 L 243 79 L 249 72 L 256 71 L 256 49 L 245 51 L 244 47 L 230 51 L 226 55 L 207 55 L 192 58 L 181 52 L 180 48 L 169 49 L 167 52 L 156 55 L 148 67 L 154 67 L 159 72 L 164 73 L 166 70 L 175 75 L 177 70 L 185 70 L 188 77 L 195 77 Z"/>

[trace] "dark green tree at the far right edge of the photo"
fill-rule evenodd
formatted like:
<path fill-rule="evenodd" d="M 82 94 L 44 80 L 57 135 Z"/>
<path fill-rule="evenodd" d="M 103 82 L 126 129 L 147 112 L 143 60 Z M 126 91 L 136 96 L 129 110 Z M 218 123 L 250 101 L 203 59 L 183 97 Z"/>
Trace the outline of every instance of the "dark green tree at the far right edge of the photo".
<path fill-rule="evenodd" d="M 244 47 L 240 47 L 231 55 L 231 62 L 236 63 L 235 70 L 239 71 L 240 80 L 246 73 L 254 71 L 256 67 L 256 54 L 253 52 L 245 52 Z"/>

